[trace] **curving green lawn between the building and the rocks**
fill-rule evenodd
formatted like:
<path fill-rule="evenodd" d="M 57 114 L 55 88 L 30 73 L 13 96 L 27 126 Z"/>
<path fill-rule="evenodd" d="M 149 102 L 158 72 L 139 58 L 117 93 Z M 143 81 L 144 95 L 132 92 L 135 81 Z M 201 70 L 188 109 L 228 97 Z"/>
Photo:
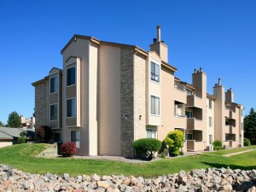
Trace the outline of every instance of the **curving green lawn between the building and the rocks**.
<path fill-rule="evenodd" d="M 125 163 L 111 160 L 81 160 L 73 158 L 44 159 L 35 157 L 47 148 L 46 144 L 20 144 L 0 148 L 0 164 L 14 166 L 24 172 L 77 175 L 134 175 L 136 177 L 155 177 L 184 170 L 207 167 L 227 167 L 232 169 L 256 169 L 256 150 L 232 157 L 197 154 L 179 158 L 166 158 L 146 163 Z"/>

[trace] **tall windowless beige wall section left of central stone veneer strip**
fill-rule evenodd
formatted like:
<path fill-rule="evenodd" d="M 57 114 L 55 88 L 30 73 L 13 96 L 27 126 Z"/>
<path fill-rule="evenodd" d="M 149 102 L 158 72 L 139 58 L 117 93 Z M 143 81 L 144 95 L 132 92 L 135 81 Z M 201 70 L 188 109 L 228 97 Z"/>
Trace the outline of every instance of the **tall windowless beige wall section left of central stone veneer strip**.
<path fill-rule="evenodd" d="M 101 45 L 99 154 L 120 155 L 120 49 Z"/>

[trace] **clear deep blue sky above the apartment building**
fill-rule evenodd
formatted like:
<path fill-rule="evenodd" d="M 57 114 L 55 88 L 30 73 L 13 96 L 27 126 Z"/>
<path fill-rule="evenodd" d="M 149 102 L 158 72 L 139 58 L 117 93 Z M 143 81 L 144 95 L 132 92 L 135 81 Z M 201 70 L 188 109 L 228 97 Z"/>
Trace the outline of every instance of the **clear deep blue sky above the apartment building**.
<path fill-rule="evenodd" d="M 73 34 L 148 50 L 157 25 L 178 78 L 191 82 L 194 68 L 203 67 L 209 93 L 220 77 L 246 113 L 256 108 L 255 0 L 2 0 L 0 10 L 3 123 L 12 111 L 32 116 L 31 84 L 62 67 L 61 49 Z"/>

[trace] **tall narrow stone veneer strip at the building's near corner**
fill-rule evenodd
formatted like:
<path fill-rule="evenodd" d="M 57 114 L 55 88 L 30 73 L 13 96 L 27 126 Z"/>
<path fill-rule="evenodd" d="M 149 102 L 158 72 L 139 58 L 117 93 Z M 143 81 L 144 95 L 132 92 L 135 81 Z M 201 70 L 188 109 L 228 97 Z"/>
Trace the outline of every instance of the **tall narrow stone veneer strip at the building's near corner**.
<path fill-rule="evenodd" d="M 120 99 L 121 99 L 121 156 L 132 157 L 134 150 L 134 108 L 133 108 L 133 58 L 134 51 L 121 49 Z M 127 119 L 125 119 L 127 115 Z"/>

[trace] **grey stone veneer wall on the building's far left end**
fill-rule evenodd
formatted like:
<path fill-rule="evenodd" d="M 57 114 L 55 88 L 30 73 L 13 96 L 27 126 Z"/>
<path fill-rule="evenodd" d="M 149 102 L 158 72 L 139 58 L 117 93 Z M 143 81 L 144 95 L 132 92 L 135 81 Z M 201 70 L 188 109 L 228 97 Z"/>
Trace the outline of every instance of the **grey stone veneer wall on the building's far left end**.
<path fill-rule="evenodd" d="M 46 81 L 35 86 L 35 95 L 35 127 L 38 128 L 40 125 L 48 125 L 48 86 Z"/>

